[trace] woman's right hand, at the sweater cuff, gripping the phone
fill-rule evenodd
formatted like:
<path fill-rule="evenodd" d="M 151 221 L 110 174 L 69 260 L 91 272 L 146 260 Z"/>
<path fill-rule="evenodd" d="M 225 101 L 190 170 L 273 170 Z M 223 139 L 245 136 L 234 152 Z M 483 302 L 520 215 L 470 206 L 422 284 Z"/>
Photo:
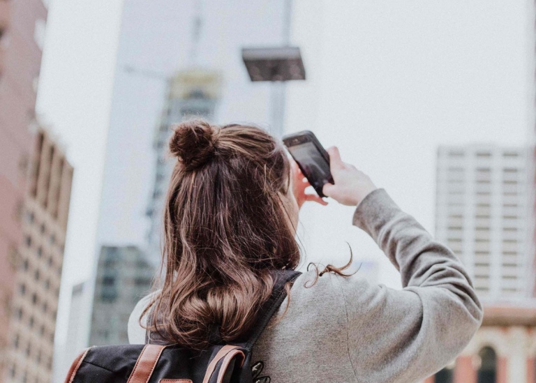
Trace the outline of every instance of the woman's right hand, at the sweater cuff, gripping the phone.
<path fill-rule="evenodd" d="M 322 193 L 347 206 L 357 206 L 364 197 L 376 189 L 371 179 L 354 165 L 343 163 L 337 147 L 327 149 L 332 183 L 326 183 Z"/>

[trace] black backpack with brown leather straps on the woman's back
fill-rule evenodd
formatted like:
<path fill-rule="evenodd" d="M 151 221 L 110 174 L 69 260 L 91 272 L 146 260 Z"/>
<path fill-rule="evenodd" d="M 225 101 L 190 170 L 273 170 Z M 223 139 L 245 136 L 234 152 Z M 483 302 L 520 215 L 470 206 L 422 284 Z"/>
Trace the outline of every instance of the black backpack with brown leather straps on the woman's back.
<path fill-rule="evenodd" d="M 285 299 L 285 284 L 294 282 L 299 274 L 274 271 L 274 290 L 241 342 L 220 342 L 200 352 L 166 344 L 155 333 L 147 333 L 145 345 L 99 346 L 82 351 L 70 366 L 65 383 L 269 383 L 269 377 L 259 376 L 262 361 L 252 366 L 251 349 Z"/>

